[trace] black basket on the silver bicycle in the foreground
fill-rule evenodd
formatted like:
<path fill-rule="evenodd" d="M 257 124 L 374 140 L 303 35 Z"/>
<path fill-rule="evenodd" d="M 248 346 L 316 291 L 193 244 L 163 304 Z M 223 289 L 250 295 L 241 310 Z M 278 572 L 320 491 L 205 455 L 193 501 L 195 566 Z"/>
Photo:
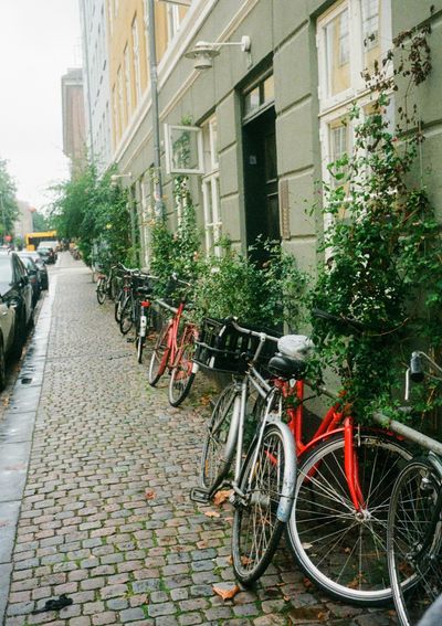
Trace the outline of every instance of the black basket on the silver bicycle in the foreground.
<path fill-rule="evenodd" d="M 262 328 L 257 329 L 251 326 L 248 326 L 248 328 L 267 332 Z M 273 330 L 269 333 L 273 337 L 280 337 L 280 333 Z M 248 361 L 254 356 L 259 343 L 257 337 L 240 332 L 225 321 L 204 318 L 199 340 L 196 341 L 193 361 L 210 370 L 241 374 L 246 371 Z M 276 343 L 267 339 L 261 350 L 256 365 L 264 367 L 276 351 Z"/>

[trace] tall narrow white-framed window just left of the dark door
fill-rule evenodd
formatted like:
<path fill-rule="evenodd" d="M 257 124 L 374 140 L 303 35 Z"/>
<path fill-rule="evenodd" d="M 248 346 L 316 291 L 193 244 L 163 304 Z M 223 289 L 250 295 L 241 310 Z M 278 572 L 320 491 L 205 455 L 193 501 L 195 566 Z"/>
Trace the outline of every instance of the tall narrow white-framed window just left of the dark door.
<path fill-rule="evenodd" d="M 220 172 L 218 163 L 217 117 L 211 117 L 202 127 L 204 176 L 202 177 L 202 204 L 204 209 L 206 251 L 220 256 L 217 243 L 221 236 Z"/>

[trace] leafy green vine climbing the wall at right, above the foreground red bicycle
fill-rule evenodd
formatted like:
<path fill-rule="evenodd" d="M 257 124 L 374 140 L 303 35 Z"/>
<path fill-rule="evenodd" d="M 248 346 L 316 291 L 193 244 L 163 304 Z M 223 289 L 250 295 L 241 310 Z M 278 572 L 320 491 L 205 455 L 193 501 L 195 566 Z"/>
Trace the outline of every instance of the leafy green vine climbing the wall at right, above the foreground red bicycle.
<path fill-rule="evenodd" d="M 371 112 L 361 119 L 357 104 L 351 107 L 352 153 L 330 165 L 334 183 L 324 184 L 324 212 L 333 220 L 322 250 L 329 261 L 311 305 L 350 317 L 364 330 L 313 317 L 314 364 L 340 376 L 346 405 L 359 421 L 373 410 L 391 411 L 412 346 L 441 356 L 440 224 L 417 176 L 424 137 L 418 108 L 409 106 L 431 71 L 429 34 L 429 26 L 402 33 L 396 50 L 365 73 Z M 394 132 L 387 118 L 393 95 L 401 98 Z"/>

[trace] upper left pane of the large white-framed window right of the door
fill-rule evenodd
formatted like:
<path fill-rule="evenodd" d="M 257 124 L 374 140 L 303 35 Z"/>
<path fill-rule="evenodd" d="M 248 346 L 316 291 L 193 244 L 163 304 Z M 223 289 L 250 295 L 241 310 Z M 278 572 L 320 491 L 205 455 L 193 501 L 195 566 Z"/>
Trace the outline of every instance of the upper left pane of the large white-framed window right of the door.
<path fill-rule="evenodd" d="M 348 10 L 338 13 L 325 28 L 328 96 L 350 87 Z"/>

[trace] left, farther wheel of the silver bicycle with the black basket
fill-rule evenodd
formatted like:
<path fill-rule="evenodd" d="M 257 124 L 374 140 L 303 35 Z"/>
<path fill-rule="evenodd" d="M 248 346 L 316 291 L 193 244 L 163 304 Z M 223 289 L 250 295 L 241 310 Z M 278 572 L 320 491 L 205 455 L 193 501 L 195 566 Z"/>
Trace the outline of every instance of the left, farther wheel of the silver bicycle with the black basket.
<path fill-rule="evenodd" d="M 222 484 L 233 459 L 236 434 L 231 433 L 231 423 L 236 394 L 236 384 L 228 385 L 218 397 L 209 421 L 201 456 L 201 485 L 210 494 Z"/>

